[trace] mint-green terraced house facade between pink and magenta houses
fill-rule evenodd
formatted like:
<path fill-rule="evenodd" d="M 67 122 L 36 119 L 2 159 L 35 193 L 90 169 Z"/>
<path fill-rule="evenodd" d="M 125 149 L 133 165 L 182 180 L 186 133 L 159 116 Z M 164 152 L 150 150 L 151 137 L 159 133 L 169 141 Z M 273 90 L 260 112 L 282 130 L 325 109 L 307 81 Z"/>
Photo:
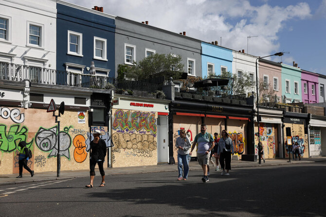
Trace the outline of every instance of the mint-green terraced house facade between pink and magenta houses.
<path fill-rule="evenodd" d="M 301 69 L 282 64 L 282 96 L 284 103 L 301 102 Z"/>

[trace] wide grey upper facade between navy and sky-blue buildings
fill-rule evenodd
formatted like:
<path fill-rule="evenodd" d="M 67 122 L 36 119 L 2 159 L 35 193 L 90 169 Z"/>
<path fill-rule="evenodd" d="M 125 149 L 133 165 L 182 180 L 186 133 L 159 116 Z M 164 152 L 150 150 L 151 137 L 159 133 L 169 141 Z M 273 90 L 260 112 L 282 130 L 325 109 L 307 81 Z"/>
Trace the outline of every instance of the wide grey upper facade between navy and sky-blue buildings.
<path fill-rule="evenodd" d="M 184 72 L 201 77 L 201 41 L 122 17 L 115 19 L 115 73 L 153 53 L 181 55 Z"/>

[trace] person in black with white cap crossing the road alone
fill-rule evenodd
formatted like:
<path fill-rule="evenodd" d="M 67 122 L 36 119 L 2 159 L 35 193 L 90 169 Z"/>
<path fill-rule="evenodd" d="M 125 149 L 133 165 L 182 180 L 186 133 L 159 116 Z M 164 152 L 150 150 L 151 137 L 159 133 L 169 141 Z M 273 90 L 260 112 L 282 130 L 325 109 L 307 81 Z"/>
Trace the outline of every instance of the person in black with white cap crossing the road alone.
<path fill-rule="evenodd" d="M 100 187 L 104 187 L 105 186 L 105 181 L 104 181 L 105 172 L 103 169 L 103 163 L 105 161 L 105 156 L 107 155 L 107 145 L 105 144 L 105 141 L 100 138 L 100 135 L 101 135 L 100 130 L 95 130 L 93 135 L 94 135 L 94 140 L 91 141 L 91 150 L 90 150 L 91 182 L 90 182 L 90 184 L 86 185 L 86 187 L 93 187 L 96 163 L 98 165 L 98 168 L 100 169 L 100 173 L 102 176 L 102 183 L 100 184 Z"/>

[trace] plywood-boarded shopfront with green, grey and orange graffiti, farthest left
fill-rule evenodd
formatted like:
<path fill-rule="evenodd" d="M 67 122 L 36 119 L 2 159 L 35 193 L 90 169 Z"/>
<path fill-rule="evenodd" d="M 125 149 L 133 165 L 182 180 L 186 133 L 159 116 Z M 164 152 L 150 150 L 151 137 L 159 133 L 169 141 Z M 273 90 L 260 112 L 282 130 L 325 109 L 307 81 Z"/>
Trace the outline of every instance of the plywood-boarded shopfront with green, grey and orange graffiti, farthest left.
<path fill-rule="evenodd" d="M 37 107 L 36 103 L 34 105 Z M 57 161 L 57 135 L 60 134 L 61 170 L 89 169 L 88 107 L 65 106 L 64 115 L 58 117 L 60 129 L 53 113 L 43 109 L 1 107 L 0 117 L 0 174 L 18 173 L 18 143 L 26 141 L 33 157 L 28 166 L 37 172 L 55 171 Z M 57 112 L 56 112 L 57 114 Z M 26 172 L 26 170 L 23 170 Z"/>

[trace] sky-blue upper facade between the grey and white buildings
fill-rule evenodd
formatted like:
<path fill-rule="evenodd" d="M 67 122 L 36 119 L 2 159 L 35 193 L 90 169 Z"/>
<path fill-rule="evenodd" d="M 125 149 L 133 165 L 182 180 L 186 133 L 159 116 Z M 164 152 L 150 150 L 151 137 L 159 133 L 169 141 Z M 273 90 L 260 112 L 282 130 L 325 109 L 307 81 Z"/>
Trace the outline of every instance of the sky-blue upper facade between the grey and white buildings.
<path fill-rule="evenodd" d="M 202 42 L 201 43 L 201 68 L 202 77 L 221 75 L 223 70 L 232 71 L 232 50 Z"/>

